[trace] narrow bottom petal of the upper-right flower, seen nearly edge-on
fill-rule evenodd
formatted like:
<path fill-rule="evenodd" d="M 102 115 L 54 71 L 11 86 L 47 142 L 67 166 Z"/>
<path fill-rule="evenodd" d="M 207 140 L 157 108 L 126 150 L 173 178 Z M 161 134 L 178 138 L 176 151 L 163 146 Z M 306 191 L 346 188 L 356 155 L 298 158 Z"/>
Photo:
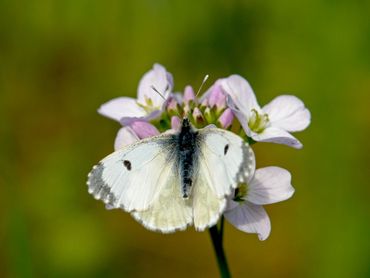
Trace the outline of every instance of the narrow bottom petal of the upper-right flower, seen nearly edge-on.
<path fill-rule="evenodd" d="M 268 127 L 261 133 L 252 133 L 251 135 L 254 141 L 258 142 L 271 142 L 277 144 L 288 145 L 290 147 L 301 149 L 302 143 L 298 141 L 291 134 L 283 129 L 277 127 Z"/>

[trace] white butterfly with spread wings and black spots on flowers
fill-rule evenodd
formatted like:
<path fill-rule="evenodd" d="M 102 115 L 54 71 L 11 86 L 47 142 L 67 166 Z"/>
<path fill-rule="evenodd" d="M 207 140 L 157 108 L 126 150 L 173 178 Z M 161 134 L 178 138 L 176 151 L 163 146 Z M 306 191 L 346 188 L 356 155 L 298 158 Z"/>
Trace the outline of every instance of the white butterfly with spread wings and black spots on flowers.
<path fill-rule="evenodd" d="M 143 139 L 105 157 L 88 175 L 89 193 L 153 231 L 217 223 L 226 197 L 253 175 L 252 149 L 232 132 L 195 129 Z"/>

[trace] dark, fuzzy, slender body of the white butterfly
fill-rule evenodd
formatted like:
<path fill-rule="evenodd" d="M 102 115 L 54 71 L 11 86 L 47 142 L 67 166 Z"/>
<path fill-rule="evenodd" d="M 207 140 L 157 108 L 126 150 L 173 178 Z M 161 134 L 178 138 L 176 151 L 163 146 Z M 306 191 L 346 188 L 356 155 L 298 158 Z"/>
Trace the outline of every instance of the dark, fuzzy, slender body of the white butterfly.
<path fill-rule="evenodd" d="M 181 193 L 183 198 L 188 198 L 193 185 L 194 173 L 197 168 L 199 133 L 184 119 L 180 133 L 176 135 L 177 161 L 179 176 L 181 178 Z"/>

